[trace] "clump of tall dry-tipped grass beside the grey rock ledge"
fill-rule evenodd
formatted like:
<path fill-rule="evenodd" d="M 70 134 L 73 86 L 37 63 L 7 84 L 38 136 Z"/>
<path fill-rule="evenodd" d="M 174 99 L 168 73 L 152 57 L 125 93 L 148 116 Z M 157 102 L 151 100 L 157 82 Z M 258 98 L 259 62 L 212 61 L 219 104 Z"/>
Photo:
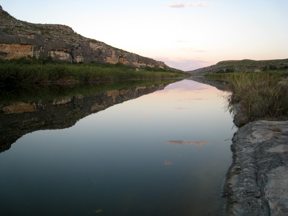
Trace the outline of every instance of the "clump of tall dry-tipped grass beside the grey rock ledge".
<path fill-rule="evenodd" d="M 278 77 L 279 78 L 279 77 Z M 229 106 L 240 103 L 242 123 L 288 116 L 288 88 L 269 73 L 234 73 L 227 77 Z"/>

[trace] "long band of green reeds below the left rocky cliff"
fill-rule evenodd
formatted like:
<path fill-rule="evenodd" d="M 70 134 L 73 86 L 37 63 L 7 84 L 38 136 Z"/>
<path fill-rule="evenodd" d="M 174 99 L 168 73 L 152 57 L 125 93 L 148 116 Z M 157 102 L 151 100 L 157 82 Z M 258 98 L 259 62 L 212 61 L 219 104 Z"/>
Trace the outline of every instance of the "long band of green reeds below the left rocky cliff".
<path fill-rule="evenodd" d="M 52 58 L 38 59 L 28 56 L 0 61 L 0 83 L 88 82 L 118 79 L 147 79 L 179 77 L 179 73 L 162 68 L 136 71 L 135 67 L 100 63 L 61 63 Z M 150 68 L 148 68 L 150 69 Z"/>

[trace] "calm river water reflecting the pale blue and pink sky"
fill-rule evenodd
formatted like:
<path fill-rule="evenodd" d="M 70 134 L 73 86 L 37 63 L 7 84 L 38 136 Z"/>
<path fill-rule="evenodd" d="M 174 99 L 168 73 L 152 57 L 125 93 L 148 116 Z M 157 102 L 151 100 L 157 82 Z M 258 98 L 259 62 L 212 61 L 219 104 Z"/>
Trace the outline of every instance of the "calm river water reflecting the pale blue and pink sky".
<path fill-rule="evenodd" d="M 184 79 L 25 134 L 0 154 L 1 215 L 222 215 L 236 130 L 222 93 Z"/>

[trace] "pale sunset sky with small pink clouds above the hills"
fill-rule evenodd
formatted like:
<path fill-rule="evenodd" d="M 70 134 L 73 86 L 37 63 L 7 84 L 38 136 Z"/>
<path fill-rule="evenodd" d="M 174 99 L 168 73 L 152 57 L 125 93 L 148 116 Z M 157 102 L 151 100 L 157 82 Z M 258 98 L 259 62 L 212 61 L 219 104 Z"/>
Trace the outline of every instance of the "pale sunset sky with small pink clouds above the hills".
<path fill-rule="evenodd" d="M 287 0 L 5 0 L 3 10 L 188 71 L 288 58 Z"/>

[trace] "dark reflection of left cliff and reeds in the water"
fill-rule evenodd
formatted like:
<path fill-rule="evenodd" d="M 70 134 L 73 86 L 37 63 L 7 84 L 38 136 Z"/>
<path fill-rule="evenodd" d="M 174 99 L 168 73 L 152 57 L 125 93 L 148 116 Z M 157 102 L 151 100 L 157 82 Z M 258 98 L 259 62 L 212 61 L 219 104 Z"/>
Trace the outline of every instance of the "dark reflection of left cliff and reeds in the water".
<path fill-rule="evenodd" d="M 79 119 L 179 79 L 50 84 L 0 88 L 0 152 L 27 133 L 73 126 Z"/>

